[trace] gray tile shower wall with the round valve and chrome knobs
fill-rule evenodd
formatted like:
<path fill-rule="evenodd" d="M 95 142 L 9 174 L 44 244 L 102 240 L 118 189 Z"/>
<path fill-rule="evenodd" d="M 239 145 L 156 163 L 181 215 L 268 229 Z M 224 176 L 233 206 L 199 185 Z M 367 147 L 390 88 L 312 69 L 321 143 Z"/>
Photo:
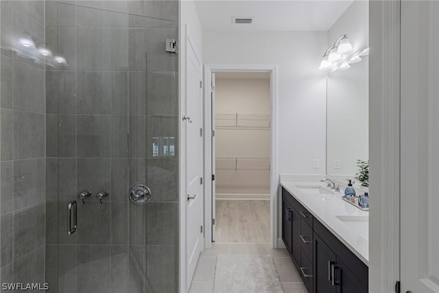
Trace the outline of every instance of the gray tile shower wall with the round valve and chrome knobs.
<path fill-rule="evenodd" d="M 178 1 L 45 1 L 47 46 L 67 59 L 45 70 L 49 292 L 178 291 L 177 37 Z M 128 200 L 138 184 L 152 189 L 143 206 Z"/>

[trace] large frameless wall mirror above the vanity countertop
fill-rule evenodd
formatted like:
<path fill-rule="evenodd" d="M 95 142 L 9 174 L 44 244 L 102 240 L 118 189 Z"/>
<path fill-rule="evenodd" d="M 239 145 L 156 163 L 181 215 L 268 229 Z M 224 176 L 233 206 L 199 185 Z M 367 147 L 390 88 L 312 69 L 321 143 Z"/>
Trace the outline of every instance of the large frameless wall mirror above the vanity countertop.
<path fill-rule="evenodd" d="M 327 76 L 327 174 L 340 180 L 353 179 L 357 160 L 369 159 L 369 62 L 361 59 Z"/>

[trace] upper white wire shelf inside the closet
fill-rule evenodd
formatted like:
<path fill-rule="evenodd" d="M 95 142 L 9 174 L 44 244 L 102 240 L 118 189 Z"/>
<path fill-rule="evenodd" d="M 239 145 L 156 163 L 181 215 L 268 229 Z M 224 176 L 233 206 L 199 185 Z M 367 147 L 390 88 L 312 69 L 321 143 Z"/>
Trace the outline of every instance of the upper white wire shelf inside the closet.
<path fill-rule="evenodd" d="M 270 129 L 269 113 L 216 113 L 217 129 Z"/>

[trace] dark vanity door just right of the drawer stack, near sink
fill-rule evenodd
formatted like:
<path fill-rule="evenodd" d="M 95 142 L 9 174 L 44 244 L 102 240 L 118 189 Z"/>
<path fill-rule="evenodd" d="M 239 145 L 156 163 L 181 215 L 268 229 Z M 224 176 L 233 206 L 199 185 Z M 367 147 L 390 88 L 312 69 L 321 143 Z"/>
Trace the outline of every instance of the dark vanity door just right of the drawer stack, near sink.
<path fill-rule="evenodd" d="M 333 280 L 332 266 L 335 265 L 337 258 L 335 253 L 325 244 L 316 233 L 314 233 L 314 291 L 315 293 L 337 293 L 337 285 Z M 337 277 L 337 275 L 336 275 Z M 334 281 L 334 284 L 333 284 Z M 356 292 L 356 291 L 353 291 Z M 347 293 L 347 292 L 346 292 Z"/>

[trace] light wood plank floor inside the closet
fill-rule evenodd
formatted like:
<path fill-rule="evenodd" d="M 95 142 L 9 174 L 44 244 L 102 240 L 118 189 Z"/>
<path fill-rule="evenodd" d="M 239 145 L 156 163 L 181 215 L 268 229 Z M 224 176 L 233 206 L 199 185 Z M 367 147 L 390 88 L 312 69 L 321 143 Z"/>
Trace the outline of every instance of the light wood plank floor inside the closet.
<path fill-rule="evenodd" d="M 270 200 L 216 200 L 216 243 L 269 243 Z"/>

